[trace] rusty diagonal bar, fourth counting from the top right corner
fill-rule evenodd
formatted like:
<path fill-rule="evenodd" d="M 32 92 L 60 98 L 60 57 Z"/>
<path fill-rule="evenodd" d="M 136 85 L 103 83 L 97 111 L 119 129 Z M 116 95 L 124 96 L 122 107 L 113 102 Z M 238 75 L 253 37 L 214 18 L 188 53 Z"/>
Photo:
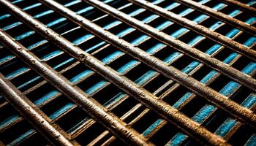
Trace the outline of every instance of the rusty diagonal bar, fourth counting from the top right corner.
<path fill-rule="evenodd" d="M 206 64 L 207 66 L 211 66 L 211 68 L 216 69 L 218 72 L 222 72 L 223 74 L 227 75 L 233 80 L 236 80 L 242 85 L 245 85 L 246 87 L 256 91 L 256 80 L 254 78 L 241 73 L 240 71 L 238 71 L 237 69 L 234 69 L 231 66 L 227 66 L 227 64 L 223 64 L 222 61 L 219 61 L 215 58 L 211 58 L 211 56 L 208 56 L 206 55 L 206 53 L 203 53 L 200 50 L 197 50 L 195 47 L 190 47 L 186 43 L 181 42 L 178 39 L 175 39 L 170 35 L 167 35 L 162 31 L 157 30 L 157 28 L 154 28 L 145 23 L 142 23 L 140 20 L 132 18 L 129 15 L 125 14 L 124 12 L 118 11 L 117 9 L 110 7 L 107 4 L 102 3 L 101 1 L 86 0 L 86 2 L 93 5 L 94 7 L 98 7 L 99 9 L 102 9 L 104 12 L 107 12 L 109 15 L 112 15 L 115 18 L 118 18 L 119 20 L 123 20 L 125 23 L 131 26 L 134 26 L 135 28 L 138 28 L 140 31 L 145 32 L 149 36 L 165 43 L 165 45 L 170 45 L 171 47 L 174 47 L 175 49 L 181 51 L 182 53 L 185 53 L 191 56 L 192 58 L 195 58 L 197 61 L 200 61 L 201 63 Z M 250 49 L 248 48 L 248 50 Z M 252 51 L 253 51 L 252 53 L 255 54 L 255 55 L 252 54 L 252 56 L 254 56 L 255 58 L 256 51 L 254 50 Z"/>

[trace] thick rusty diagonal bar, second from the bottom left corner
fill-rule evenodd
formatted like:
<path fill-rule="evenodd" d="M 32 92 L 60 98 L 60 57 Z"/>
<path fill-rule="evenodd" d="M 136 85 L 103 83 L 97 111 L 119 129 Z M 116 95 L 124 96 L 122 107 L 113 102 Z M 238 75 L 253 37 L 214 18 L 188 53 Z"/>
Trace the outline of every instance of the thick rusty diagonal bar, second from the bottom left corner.
<path fill-rule="evenodd" d="M 10 4 L 9 2 L 7 3 Z M 4 34 L 4 32 L 1 31 L 1 34 Z M 9 48 L 12 53 L 17 55 L 28 66 L 30 66 L 31 69 L 34 69 L 38 74 L 44 77 L 45 80 L 48 80 L 50 84 L 59 89 L 59 91 L 72 99 L 76 104 L 80 105 L 83 110 L 86 110 L 92 118 L 108 128 L 108 130 L 116 135 L 116 137 L 121 138 L 129 145 L 151 145 L 150 142 L 145 142 L 143 137 L 140 136 L 137 131 L 129 128 L 126 123 L 119 120 L 115 115 L 102 107 L 102 105 L 97 101 L 91 99 L 90 96 L 86 95 L 86 93 L 80 90 L 80 88 L 72 85 L 69 80 L 51 69 L 47 64 L 39 61 L 34 54 L 29 53 L 25 47 L 20 45 L 18 42 L 15 42 L 11 37 L 5 35 L 4 38 L 1 38 L 1 42 Z"/>

